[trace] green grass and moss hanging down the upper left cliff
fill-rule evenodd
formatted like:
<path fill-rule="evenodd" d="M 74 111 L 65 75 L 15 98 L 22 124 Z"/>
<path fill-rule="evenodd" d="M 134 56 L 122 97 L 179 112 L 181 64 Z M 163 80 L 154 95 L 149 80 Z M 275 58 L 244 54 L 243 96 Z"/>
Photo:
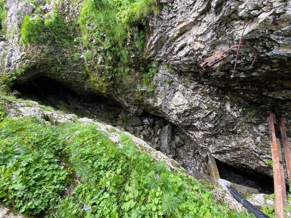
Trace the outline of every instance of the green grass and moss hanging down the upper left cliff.
<path fill-rule="evenodd" d="M 20 42 L 24 47 L 39 47 L 41 52 L 33 59 L 52 68 L 62 78 L 71 77 L 64 74 L 64 65 L 80 65 L 80 53 L 84 54 L 85 66 L 78 68 L 88 78 L 86 86 L 101 93 L 113 84 L 114 78 L 126 77 L 133 65 L 141 64 L 141 71 L 147 72 L 148 63 L 135 59 L 144 60 L 141 51 L 146 16 L 159 13 L 156 0 L 69 1 L 71 5 L 78 4 L 75 18 L 66 18 L 68 15 L 60 9 L 61 1 L 50 2 L 52 13 L 45 13 L 43 2 L 32 2 L 36 9 L 20 25 Z M 16 70 L 14 74 L 17 76 L 33 67 L 36 66 L 20 66 L 23 70 Z M 12 84 L 15 78 L 1 80 Z"/>

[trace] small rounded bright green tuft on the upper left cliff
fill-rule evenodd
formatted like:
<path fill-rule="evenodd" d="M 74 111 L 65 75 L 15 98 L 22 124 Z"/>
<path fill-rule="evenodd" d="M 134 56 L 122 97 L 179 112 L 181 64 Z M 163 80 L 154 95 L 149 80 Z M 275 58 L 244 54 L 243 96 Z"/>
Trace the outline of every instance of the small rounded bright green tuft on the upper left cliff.
<path fill-rule="evenodd" d="M 35 19 L 31 16 L 25 16 L 21 25 L 21 40 L 23 45 L 30 43 L 40 43 L 41 35 L 44 32 L 44 21 L 40 14 Z"/>

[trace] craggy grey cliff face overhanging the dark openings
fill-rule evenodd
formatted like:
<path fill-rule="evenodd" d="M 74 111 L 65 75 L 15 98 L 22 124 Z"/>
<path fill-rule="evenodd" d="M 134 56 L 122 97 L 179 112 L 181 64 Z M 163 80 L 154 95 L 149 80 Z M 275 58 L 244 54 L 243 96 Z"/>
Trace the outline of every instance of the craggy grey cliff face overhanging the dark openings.
<path fill-rule="evenodd" d="M 210 151 L 228 165 L 272 175 L 266 161 L 272 157 L 267 112 L 272 109 L 291 118 L 290 1 L 160 0 L 159 15 L 147 16 L 146 25 L 129 23 L 134 31 L 124 41 L 128 60 L 123 63 L 119 56 L 108 58 L 108 49 L 95 36 L 83 43 L 78 21 L 82 3 L 35 2 L 37 7 L 29 1 L 6 3 L 7 41 L 0 42 L 2 88 L 45 76 L 77 93 L 118 102 L 133 115 L 147 111 L 162 117 L 190 139 L 192 150 Z M 24 46 L 24 17 L 44 18 L 55 11 L 69 30 L 66 39 L 43 37 L 42 43 Z M 253 53 L 242 48 L 234 78 L 235 49 L 204 72 L 199 64 L 237 45 L 249 20 L 242 42 L 257 50 L 254 68 L 249 69 Z M 94 28 L 88 23 L 85 29 Z M 138 50 L 131 46 L 137 37 L 143 40 Z M 171 125 L 161 131 L 170 131 Z M 163 144 L 159 149 L 174 155 Z"/>

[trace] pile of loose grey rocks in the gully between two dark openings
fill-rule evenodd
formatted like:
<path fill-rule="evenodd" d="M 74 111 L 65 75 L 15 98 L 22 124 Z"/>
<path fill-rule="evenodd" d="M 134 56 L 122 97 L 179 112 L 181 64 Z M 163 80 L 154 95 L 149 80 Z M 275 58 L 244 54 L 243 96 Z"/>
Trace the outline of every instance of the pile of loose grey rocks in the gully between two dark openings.
<path fill-rule="evenodd" d="M 113 120 L 113 126 L 146 141 L 152 148 L 178 161 L 189 174 L 199 171 L 208 174 L 206 152 L 193 143 L 175 125 L 153 115 L 122 114 Z"/>

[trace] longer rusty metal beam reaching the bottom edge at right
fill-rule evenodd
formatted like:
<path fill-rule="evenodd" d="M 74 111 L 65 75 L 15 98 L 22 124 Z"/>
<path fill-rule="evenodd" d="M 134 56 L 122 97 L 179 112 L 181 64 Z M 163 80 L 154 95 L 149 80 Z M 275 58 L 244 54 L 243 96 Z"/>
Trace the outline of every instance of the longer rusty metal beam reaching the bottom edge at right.
<path fill-rule="evenodd" d="M 287 205 L 286 185 L 284 177 L 284 168 L 282 162 L 282 154 L 280 144 L 277 143 L 274 117 L 272 111 L 268 116 L 272 159 L 273 159 L 273 171 L 274 171 L 274 189 L 275 189 L 275 217 L 286 218 L 284 214 L 284 207 Z"/>

